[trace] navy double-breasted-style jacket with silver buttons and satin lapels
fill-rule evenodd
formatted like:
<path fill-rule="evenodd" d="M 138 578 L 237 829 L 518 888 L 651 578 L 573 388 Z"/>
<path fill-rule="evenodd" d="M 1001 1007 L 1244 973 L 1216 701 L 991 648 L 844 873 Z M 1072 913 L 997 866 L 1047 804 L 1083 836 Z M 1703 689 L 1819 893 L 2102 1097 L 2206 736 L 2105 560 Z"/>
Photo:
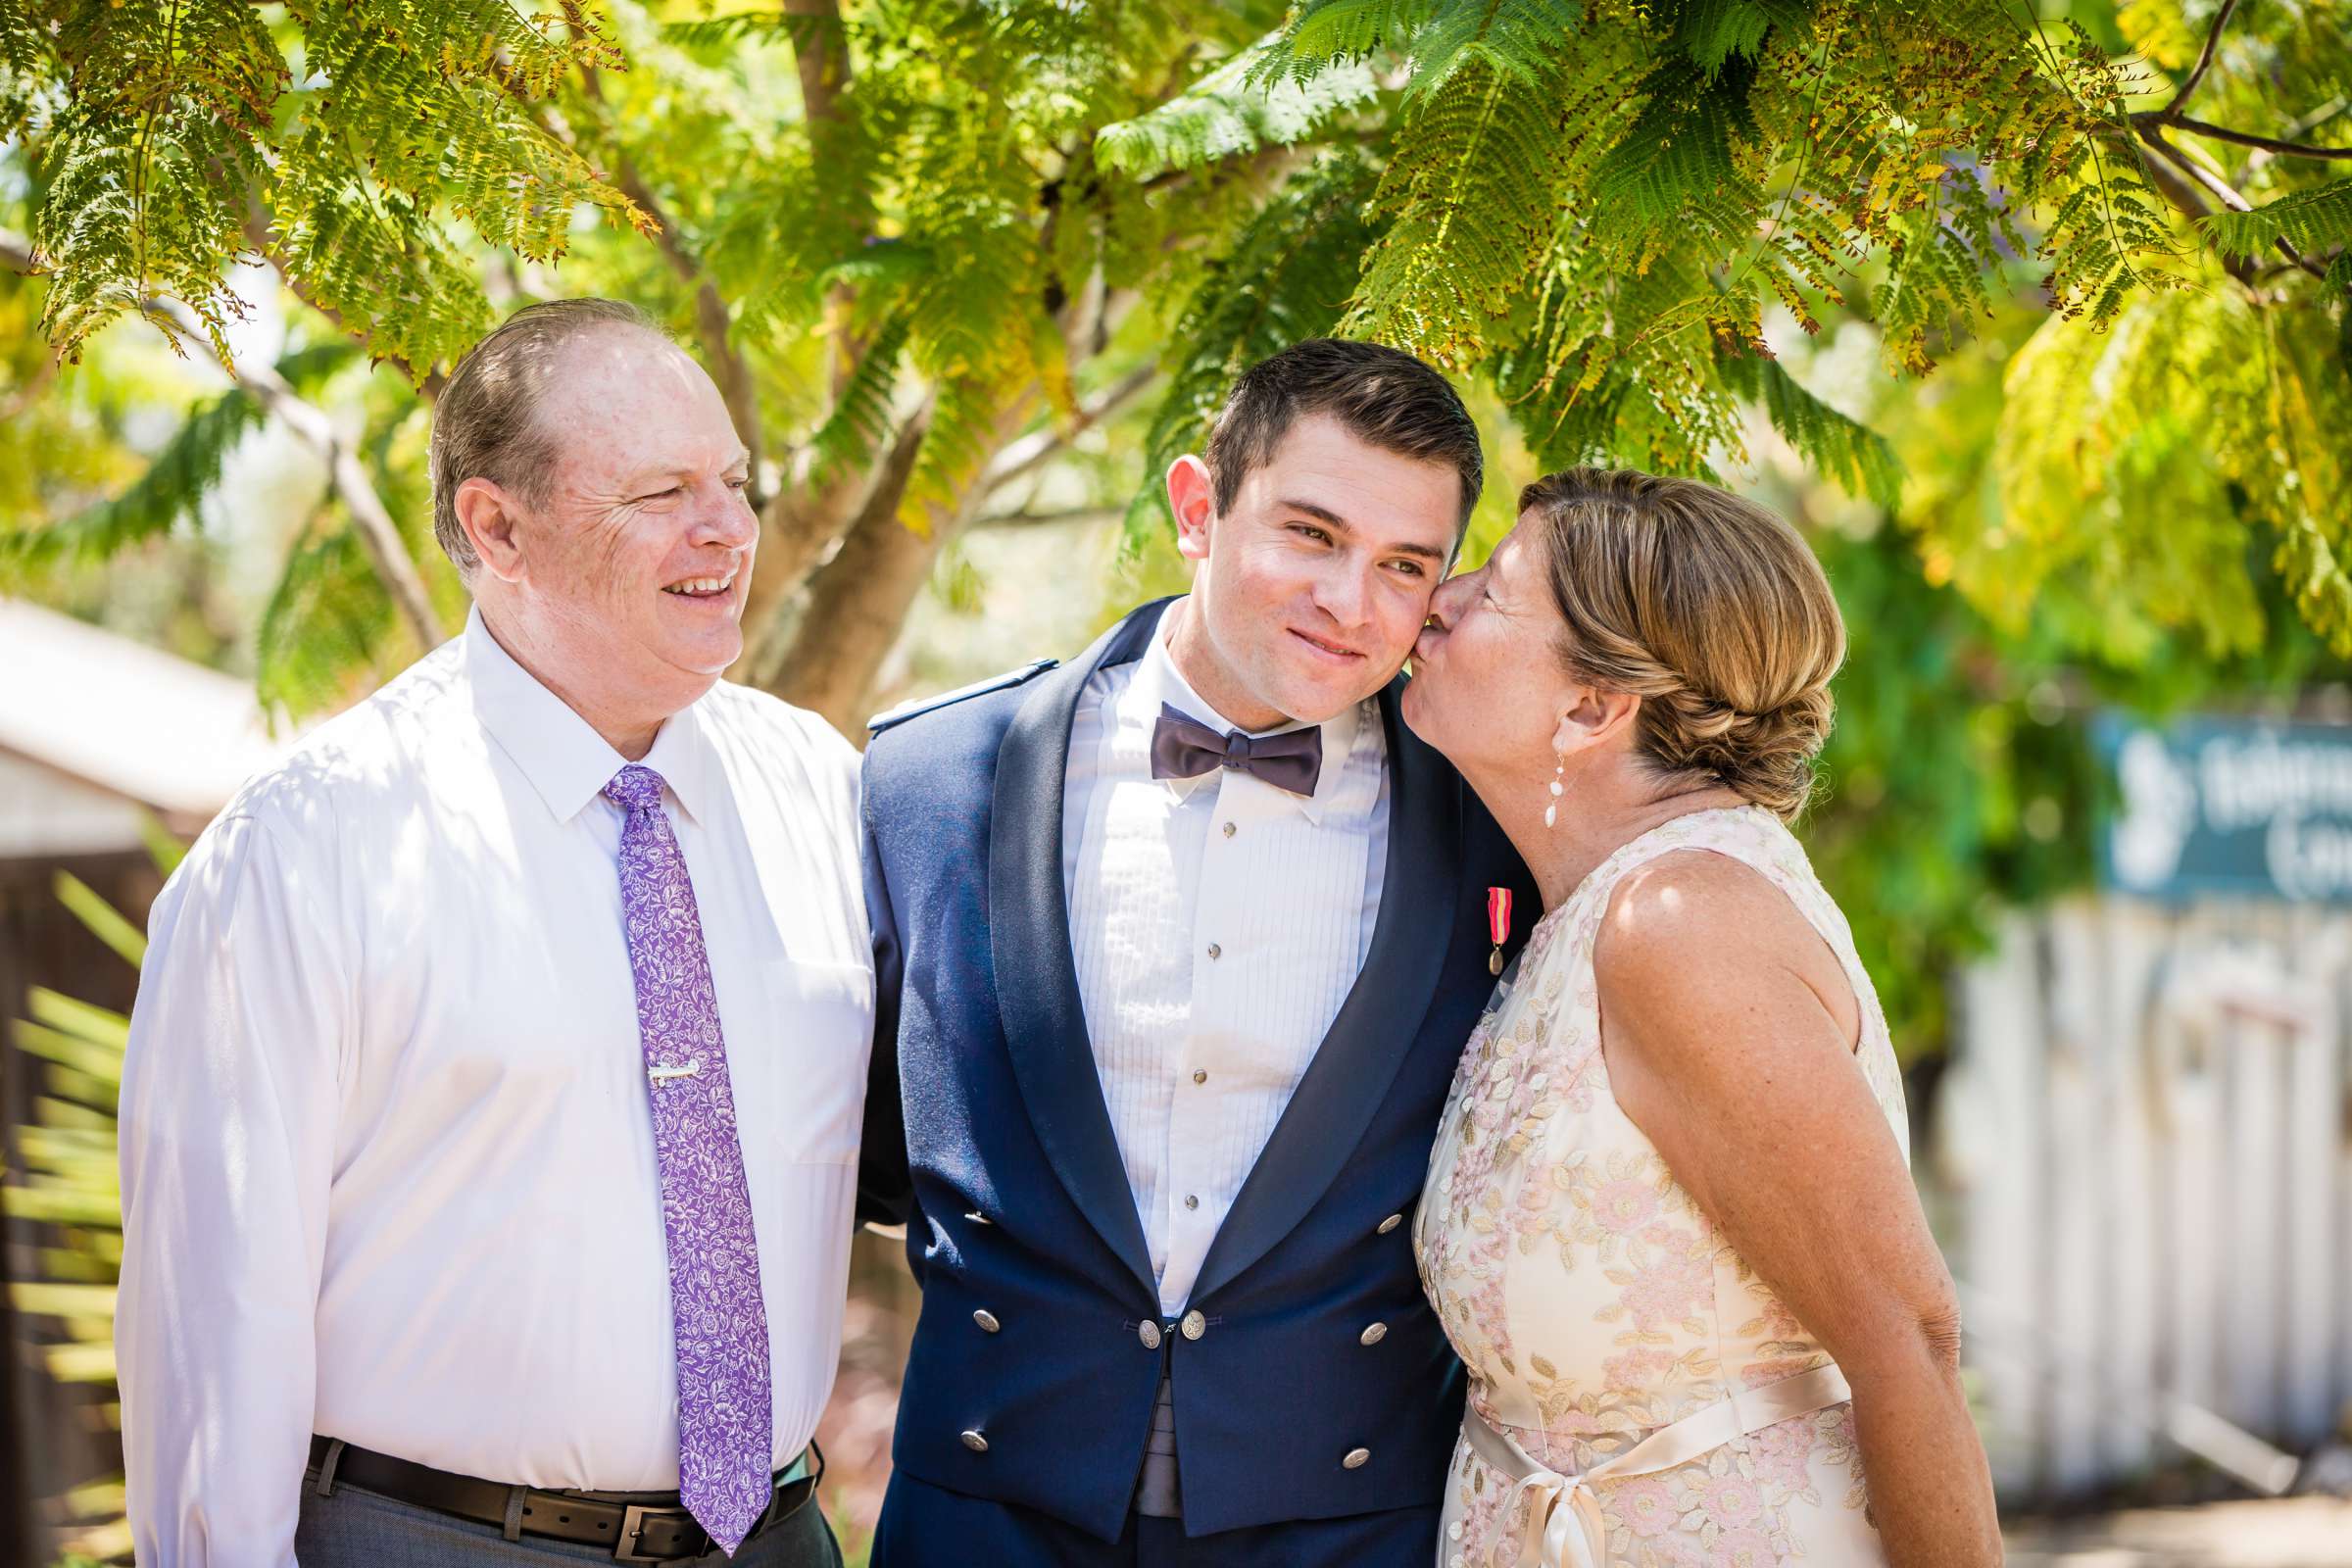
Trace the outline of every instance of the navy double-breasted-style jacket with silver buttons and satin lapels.
<path fill-rule="evenodd" d="M 1463 1378 L 1409 1220 L 1494 985 L 1486 889 L 1515 891 L 1512 947 L 1536 893 L 1402 724 L 1399 677 L 1378 696 L 1390 825 L 1371 954 L 1202 1262 L 1202 1333 L 1164 1324 L 1061 875 L 1080 689 L 1138 658 L 1162 609 L 1077 663 L 877 719 L 866 750 L 880 1004 L 861 1192 L 868 1218 L 908 1220 L 922 1284 L 891 1458 L 1117 1540 L 1167 1363 L 1188 1535 L 1428 1507 Z M 1371 1324 L 1385 1335 L 1367 1342 Z M 1369 1460 L 1343 1465 L 1357 1448 Z"/>

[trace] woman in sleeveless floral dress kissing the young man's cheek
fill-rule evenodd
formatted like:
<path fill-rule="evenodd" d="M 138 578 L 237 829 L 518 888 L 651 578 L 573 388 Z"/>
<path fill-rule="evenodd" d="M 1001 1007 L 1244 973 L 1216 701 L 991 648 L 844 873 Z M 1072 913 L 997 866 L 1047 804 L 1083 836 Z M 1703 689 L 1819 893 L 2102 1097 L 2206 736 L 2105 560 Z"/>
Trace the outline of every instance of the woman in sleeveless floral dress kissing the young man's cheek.
<path fill-rule="evenodd" d="M 1844 625 L 1719 489 L 1573 470 L 1404 717 L 1543 891 L 1416 1218 L 1470 1371 L 1442 1568 L 1997 1563 L 1903 1086 L 1788 820 Z"/>

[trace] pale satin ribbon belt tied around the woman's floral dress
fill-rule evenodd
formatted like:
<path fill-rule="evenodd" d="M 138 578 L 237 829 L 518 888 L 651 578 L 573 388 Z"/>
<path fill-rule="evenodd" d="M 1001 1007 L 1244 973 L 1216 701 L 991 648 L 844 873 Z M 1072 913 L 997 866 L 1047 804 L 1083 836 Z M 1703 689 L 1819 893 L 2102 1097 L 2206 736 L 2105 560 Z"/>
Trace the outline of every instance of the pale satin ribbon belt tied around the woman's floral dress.
<path fill-rule="evenodd" d="M 1689 1465 L 1736 1436 L 1828 1410 L 1849 1399 L 1853 1399 L 1853 1389 L 1846 1387 L 1846 1375 L 1837 1371 L 1837 1363 L 1816 1366 L 1759 1389 L 1743 1389 L 1670 1427 L 1658 1427 L 1625 1453 L 1578 1476 L 1564 1476 L 1529 1458 L 1519 1443 L 1489 1427 L 1477 1410 L 1463 1420 L 1463 1432 L 1477 1458 L 1517 1483 L 1512 1505 L 1519 1495 L 1529 1500 L 1526 1540 L 1519 1544 L 1517 1568 L 1604 1568 L 1609 1533 L 1602 1523 L 1602 1500 L 1592 1490 L 1595 1486 Z M 1510 1512 L 1505 1505 L 1503 1516 L 1510 1519 Z"/>

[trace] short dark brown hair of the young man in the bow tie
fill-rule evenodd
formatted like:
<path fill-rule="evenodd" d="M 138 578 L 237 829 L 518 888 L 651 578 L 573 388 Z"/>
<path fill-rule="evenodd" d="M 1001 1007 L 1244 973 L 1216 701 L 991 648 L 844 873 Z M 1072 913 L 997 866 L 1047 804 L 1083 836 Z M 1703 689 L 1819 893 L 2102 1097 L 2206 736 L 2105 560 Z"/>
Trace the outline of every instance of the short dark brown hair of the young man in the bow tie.
<path fill-rule="evenodd" d="M 1216 510 L 1242 494 L 1242 480 L 1263 468 L 1282 437 L 1305 414 L 1329 414 L 1348 435 L 1421 463 L 1444 463 L 1463 487 L 1456 538 L 1486 484 L 1486 456 L 1461 393 L 1435 369 L 1381 343 L 1308 339 L 1258 360 L 1232 383 L 1209 428 L 1209 480 Z"/>

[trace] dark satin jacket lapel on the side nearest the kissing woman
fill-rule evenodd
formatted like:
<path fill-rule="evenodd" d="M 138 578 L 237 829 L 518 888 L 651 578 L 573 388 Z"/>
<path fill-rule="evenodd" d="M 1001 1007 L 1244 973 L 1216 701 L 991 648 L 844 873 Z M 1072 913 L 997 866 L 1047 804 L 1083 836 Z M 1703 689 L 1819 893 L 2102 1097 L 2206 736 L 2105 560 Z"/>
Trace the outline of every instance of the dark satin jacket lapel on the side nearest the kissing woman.
<path fill-rule="evenodd" d="M 1454 945 L 1463 785 L 1435 750 L 1404 729 L 1397 715 L 1402 691 L 1402 679 L 1381 691 L 1381 726 L 1388 736 L 1388 872 L 1371 952 L 1209 1244 L 1192 1300 L 1207 1300 L 1263 1258 L 1331 1187 L 1397 1079 L 1437 994 L 1437 971 Z"/>

